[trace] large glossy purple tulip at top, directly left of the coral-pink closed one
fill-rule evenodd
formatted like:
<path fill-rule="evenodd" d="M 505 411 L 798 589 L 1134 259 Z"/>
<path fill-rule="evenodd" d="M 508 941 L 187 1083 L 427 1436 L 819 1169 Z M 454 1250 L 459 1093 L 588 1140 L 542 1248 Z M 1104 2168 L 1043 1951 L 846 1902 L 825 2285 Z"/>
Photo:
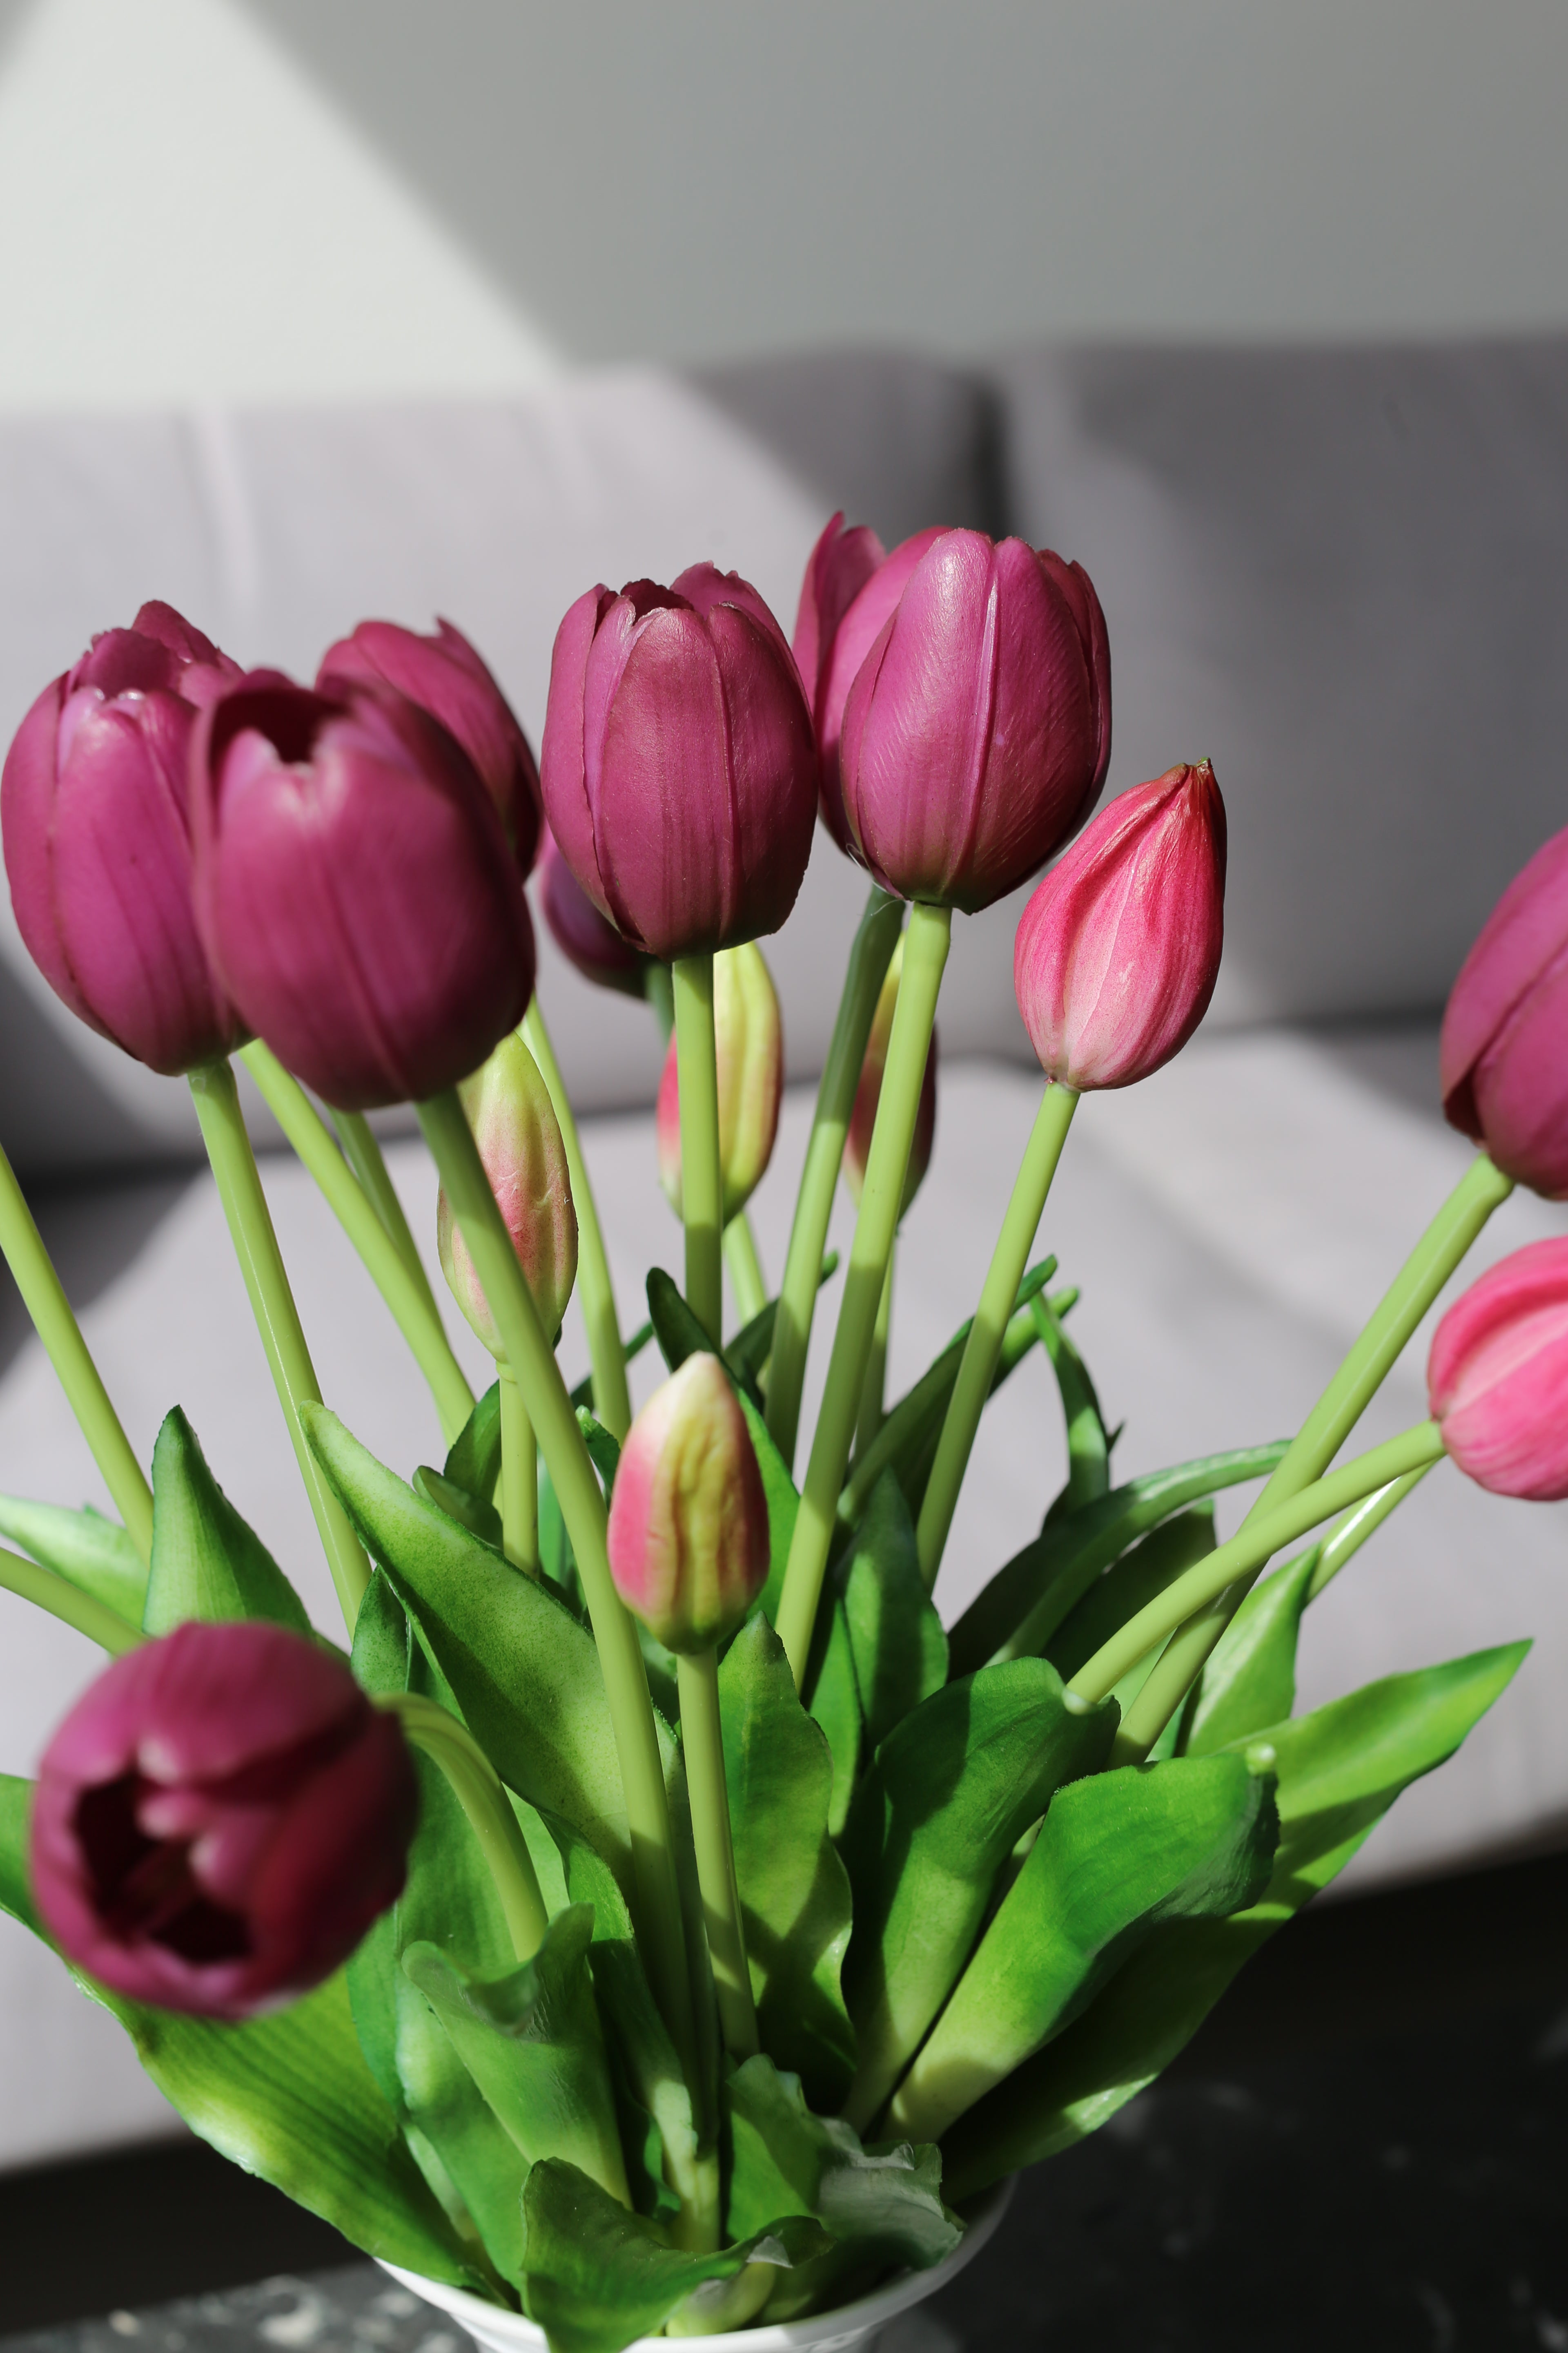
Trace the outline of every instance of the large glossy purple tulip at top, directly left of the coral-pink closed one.
<path fill-rule="evenodd" d="M 1088 574 L 983 532 L 893 548 L 844 612 L 818 692 L 827 802 L 835 729 L 853 856 L 905 899 L 971 913 L 1001 899 L 1105 784 L 1110 649 Z"/>

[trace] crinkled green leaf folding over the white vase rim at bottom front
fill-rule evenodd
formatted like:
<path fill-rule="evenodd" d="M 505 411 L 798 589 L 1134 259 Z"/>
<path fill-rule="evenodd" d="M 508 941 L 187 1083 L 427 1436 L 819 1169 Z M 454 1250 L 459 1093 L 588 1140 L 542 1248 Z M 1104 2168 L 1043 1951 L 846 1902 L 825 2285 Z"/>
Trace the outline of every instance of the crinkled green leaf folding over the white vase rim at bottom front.
<path fill-rule="evenodd" d="M 665 2231 L 607 2198 L 597 2181 L 557 2158 L 536 2165 L 522 2193 L 529 2315 L 550 2353 L 621 2353 L 656 2334 L 708 2280 L 745 2264 L 797 2264 L 827 2247 L 820 2224 L 797 2214 L 712 2254 L 672 2247 Z"/>

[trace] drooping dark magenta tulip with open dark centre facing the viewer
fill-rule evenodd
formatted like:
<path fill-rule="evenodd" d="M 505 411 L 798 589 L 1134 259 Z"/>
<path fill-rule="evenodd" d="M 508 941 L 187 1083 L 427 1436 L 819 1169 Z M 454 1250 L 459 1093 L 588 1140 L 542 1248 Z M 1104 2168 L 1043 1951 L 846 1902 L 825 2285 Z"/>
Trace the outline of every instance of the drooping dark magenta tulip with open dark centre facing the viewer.
<path fill-rule="evenodd" d="M 115 1659 L 45 1751 L 33 1897 L 78 1969 L 249 2019 L 348 1960 L 402 1889 L 414 1765 L 329 1652 L 179 1626 Z"/>

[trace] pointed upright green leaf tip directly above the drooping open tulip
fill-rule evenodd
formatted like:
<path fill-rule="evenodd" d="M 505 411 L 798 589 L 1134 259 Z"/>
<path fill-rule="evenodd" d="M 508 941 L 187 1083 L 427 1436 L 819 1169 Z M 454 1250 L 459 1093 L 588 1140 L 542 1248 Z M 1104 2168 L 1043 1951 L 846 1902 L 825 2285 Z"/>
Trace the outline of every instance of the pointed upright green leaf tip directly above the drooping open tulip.
<path fill-rule="evenodd" d="M 270 1619 L 310 1633 L 306 1605 L 214 1480 L 176 1405 L 153 1447 L 153 1569 L 141 1624 L 169 1633 L 186 1619 Z"/>

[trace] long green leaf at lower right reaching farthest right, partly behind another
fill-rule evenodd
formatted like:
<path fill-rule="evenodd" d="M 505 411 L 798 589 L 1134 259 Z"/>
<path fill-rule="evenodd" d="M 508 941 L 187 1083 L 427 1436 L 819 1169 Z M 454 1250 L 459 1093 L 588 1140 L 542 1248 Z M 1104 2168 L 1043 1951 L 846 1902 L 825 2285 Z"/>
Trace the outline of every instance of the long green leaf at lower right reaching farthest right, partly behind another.
<path fill-rule="evenodd" d="M 1192 2040 L 1251 1955 L 1356 1854 L 1399 1793 L 1460 1746 L 1509 1685 L 1528 1642 L 1389 1675 L 1281 1725 L 1272 1751 L 1279 1854 L 1269 1885 L 1227 1920 L 1173 1920 L 1067 2033 L 997 2085 L 945 2137 L 947 2195 L 973 2198 L 1098 2132 Z"/>

